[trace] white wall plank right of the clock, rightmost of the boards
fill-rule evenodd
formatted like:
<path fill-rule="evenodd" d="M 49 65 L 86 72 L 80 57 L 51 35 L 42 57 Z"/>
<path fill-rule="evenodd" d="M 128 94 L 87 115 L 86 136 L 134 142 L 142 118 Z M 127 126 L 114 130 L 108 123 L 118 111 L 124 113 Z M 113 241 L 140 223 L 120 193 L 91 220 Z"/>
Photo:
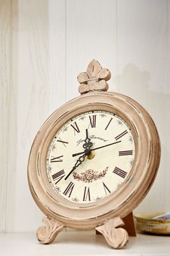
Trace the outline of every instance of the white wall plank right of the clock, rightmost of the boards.
<path fill-rule="evenodd" d="M 169 1 L 117 1 L 117 92 L 146 108 L 161 138 L 156 182 L 136 212 L 169 210 L 169 14 Z"/>

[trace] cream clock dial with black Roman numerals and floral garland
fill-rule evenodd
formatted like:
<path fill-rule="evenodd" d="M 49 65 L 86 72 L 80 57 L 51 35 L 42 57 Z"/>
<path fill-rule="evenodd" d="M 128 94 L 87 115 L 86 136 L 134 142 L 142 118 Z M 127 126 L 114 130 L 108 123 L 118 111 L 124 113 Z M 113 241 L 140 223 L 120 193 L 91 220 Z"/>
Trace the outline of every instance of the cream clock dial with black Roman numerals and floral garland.
<path fill-rule="evenodd" d="M 48 180 L 67 200 L 95 202 L 128 179 L 134 158 L 133 134 L 124 120 L 108 111 L 86 112 L 69 120 L 50 143 Z"/>

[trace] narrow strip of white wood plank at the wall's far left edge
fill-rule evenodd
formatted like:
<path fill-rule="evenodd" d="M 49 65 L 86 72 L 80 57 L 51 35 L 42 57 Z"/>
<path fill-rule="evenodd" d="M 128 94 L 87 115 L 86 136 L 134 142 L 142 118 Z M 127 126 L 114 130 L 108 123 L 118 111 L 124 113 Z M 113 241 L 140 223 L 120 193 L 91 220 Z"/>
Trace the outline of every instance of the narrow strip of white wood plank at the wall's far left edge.
<path fill-rule="evenodd" d="M 11 93 L 11 1 L 0 1 L 0 231 L 6 230 L 6 198 L 9 170 L 9 125 Z"/>

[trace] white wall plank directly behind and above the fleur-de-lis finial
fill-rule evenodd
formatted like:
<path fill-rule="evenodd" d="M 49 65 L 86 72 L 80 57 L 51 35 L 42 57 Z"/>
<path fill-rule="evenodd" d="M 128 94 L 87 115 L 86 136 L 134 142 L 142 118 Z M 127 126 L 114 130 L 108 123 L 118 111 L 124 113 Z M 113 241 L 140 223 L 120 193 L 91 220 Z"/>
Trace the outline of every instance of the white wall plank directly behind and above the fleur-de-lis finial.
<path fill-rule="evenodd" d="M 79 95 L 77 75 L 92 59 L 116 67 L 116 0 L 71 0 L 66 4 L 66 100 Z M 111 78 L 112 80 L 112 78 Z M 112 90 L 112 82 L 110 90 Z"/>

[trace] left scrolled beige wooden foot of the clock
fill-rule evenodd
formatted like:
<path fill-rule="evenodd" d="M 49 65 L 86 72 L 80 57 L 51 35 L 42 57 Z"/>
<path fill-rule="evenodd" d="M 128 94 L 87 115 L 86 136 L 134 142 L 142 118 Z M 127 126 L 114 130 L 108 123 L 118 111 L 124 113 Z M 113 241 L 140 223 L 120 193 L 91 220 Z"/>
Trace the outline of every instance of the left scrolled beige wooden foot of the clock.
<path fill-rule="evenodd" d="M 40 226 L 37 229 L 37 240 L 41 244 L 50 244 L 54 242 L 58 233 L 65 229 L 65 226 L 54 218 L 45 216 L 42 218 L 42 222 L 45 226 Z"/>

